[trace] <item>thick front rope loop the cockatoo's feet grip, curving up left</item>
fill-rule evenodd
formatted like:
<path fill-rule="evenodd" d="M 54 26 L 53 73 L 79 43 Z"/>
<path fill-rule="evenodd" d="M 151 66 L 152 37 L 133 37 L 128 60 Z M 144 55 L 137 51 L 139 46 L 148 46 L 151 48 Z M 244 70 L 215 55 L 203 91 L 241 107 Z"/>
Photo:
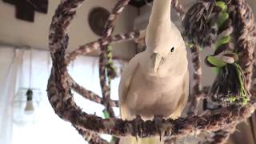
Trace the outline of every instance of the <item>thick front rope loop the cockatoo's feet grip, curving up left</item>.
<path fill-rule="evenodd" d="M 48 98 L 55 113 L 60 118 L 71 122 L 78 130 L 84 132 L 90 130 L 94 133 L 115 136 L 133 135 L 141 138 L 156 135 L 182 136 L 204 130 L 221 130 L 242 122 L 254 112 L 256 106 L 254 98 L 251 98 L 251 101 L 245 106 L 227 106 L 213 110 L 211 114 L 203 114 L 201 117 L 192 116 L 176 120 L 154 118 L 152 121 L 143 122 L 142 118 L 138 117 L 133 121 L 123 121 L 119 118 L 103 119 L 82 112 L 82 109 L 74 103 L 70 93 L 69 74 L 66 69 L 66 46 L 69 40 L 66 32 L 69 30 L 70 21 L 74 17 L 76 8 L 81 3 L 82 0 L 62 1 L 56 10 L 50 26 L 49 46 L 53 68 L 47 86 Z"/>

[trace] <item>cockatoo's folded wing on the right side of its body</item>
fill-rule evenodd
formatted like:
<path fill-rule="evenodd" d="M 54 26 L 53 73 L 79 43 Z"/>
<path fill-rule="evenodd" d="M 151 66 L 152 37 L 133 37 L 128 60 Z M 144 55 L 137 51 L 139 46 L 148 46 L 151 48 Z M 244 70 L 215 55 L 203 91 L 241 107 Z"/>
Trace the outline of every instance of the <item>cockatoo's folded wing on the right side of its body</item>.
<path fill-rule="evenodd" d="M 174 110 L 174 113 L 170 115 L 170 118 L 176 119 L 178 117 L 181 116 L 182 111 L 184 110 L 185 106 L 186 106 L 186 102 L 188 100 L 189 97 L 189 71 L 186 72 L 186 76 L 183 80 L 183 86 L 181 87 L 182 90 L 184 91 L 184 93 L 182 94 L 181 98 L 178 101 L 178 105 L 176 110 Z"/>

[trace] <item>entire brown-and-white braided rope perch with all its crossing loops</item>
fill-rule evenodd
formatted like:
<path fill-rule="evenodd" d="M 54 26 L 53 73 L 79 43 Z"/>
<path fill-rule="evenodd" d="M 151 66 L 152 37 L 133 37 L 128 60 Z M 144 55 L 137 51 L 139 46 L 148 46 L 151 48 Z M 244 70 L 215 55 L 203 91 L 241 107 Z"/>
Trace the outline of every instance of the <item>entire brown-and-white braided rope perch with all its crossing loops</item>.
<path fill-rule="evenodd" d="M 47 93 L 51 106 L 58 116 L 66 121 L 72 123 L 72 125 L 78 130 L 79 134 L 90 143 L 108 143 L 98 134 L 111 134 L 117 137 L 133 135 L 138 137 L 153 137 L 160 135 L 162 137 L 175 137 L 184 136 L 187 134 L 198 134 L 202 131 L 215 131 L 215 134 L 219 134 L 218 130 L 236 125 L 238 122 L 242 122 L 245 118 L 250 117 L 256 107 L 256 99 L 251 98 L 250 102 L 246 106 L 227 106 L 222 109 L 210 111 L 210 114 L 203 114 L 202 116 L 190 115 L 188 118 L 178 118 L 176 120 L 154 118 L 152 121 L 143 122 L 142 118 L 135 118 L 133 121 L 124 121 L 120 118 L 103 119 L 96 115 L 86 114 L 77 106 L 74 102 L 73 95 L 70 90 L 74 90 L 81 94 L 84 98 L 88 98 L 91 101 L 98 102 L 106 106 L 106 110 L 111 111 L 112 106 L 118 106 L 117 101 L 112 101 L 109 98 L 109 88 L 106 86 L 106 78 L 102 76 L 102 91 L 106 94 L 103 98 L 97 94 L 84 89 L 79 86 L 70 77 L 67 72 L 66 66 L 73 61 L 78 55 L 88 54 L 92 50 L 102 50 L 102 63 L 106 58 L 106 45 L 113 42 L 122 42 L 125 40 L 132 40 L 139 38 L 141 34 L 139 32 L 131 32 L 128 34 L 118 34 L 111 37 L 114 30 L 114 19 L 123 10 L 123 7 L 130 2 L 130 0 L 119 0 L 118 4 L 114 6 L 113 13 L 110 15 L 108 24 L 106 25 L 106 33 L 103 38 L 98 39 L 95 42 L 90 42 L 83 46 L 80 46 L 78 50 L 74 50 L 70 54 L 66 54 L 66 48 L 69 41 L 67 31 L 70 27 L 70 22 L 74 18 L 74 14 L 78 6 L 81 6 L 84 0 L 62 0 L 58 9 L 55 11 L 52 23 L 50 25 L 49 35 L 49 47 L 50 55 L 53 60 L 53 68 L 48 80 Z M 238 14 L 241 20 L 242 26 L 241 36 L 239 37 L 239 46 L 244 51 L 242 55 L 242 66 L 246 72 L 246 80 L 250 82 L 250 75 L 252 74 L 253 66 L 253 52 L 254 52 L 254 38 L 255 28 L 254 20 L 251 18 L 251 10 L 243 0 L 234 0 L 238 2 Z M 182 11 L 181 6 L 178 6 L 178 1 L 173 6 L 176 6 Z M 249 17 L 248 17 L 249 14 Z M 180 14 L 184 15 L 184 14 Z M 200 62 L 199 54 L 196 49 L 192 53 L 194 54 L 194 79 L 197 80 L 194 84 L 194 94 L 201 94 L 200 90 Z M 102 64 L 101 63 L 101 64 Z M 103 67 L 103 66 L 102 66 Z M 104 70 L 104 69 L 102 69 Z M 253 80 L 255 82 L 255 79 Z M 253 84 L 254 85 L 254 84 Z M 247 85 L 249 86 L 249 85 Z M 252 95 L 255 96 L 254 90 L 251 90 Z M 194 96 L 195 103 L 198 103 L 199 96 Z M 192 105 L 193 106 L 193 105 Z M 193 110 L 196 110 L 197 106 L 194 106 Z M 110 112 L 111 113 L 111 112 Z M 219 132 L 219 133 L 218 133 Z M 219 138 L 226 139 L 222 134 Z M 216 135 L 218 137 L 218 135 Z M 216 138 L 213 137 L 213 138 Z M 216 138 L 218 139 L 218 138 Z M 217 140 L 214 142 L 218 142 Z"/>

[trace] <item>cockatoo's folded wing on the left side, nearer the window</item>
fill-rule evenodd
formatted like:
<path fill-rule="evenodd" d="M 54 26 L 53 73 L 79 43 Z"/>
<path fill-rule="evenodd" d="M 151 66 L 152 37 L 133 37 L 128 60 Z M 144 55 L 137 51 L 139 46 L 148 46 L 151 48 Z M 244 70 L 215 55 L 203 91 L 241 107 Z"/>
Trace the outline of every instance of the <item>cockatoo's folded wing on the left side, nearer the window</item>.
<path fill-rule="evenodd" d="M 125 70 L 122 71 L 122 77 L 119 83 L 118 95 L 119 95 L 119 106 L 121 118 L 123 119 L 131 119 L 132 115 L 128 112 L 126 108 L 126 98 L 127 94 L 130 90 L 130 82 L 134 78 L 134 74 L 136 70 L 138 70 L 139 66 L 139 55 L 135 55 L 134 58 L 130 60 L 128 66 L 126 66 Z"/>

